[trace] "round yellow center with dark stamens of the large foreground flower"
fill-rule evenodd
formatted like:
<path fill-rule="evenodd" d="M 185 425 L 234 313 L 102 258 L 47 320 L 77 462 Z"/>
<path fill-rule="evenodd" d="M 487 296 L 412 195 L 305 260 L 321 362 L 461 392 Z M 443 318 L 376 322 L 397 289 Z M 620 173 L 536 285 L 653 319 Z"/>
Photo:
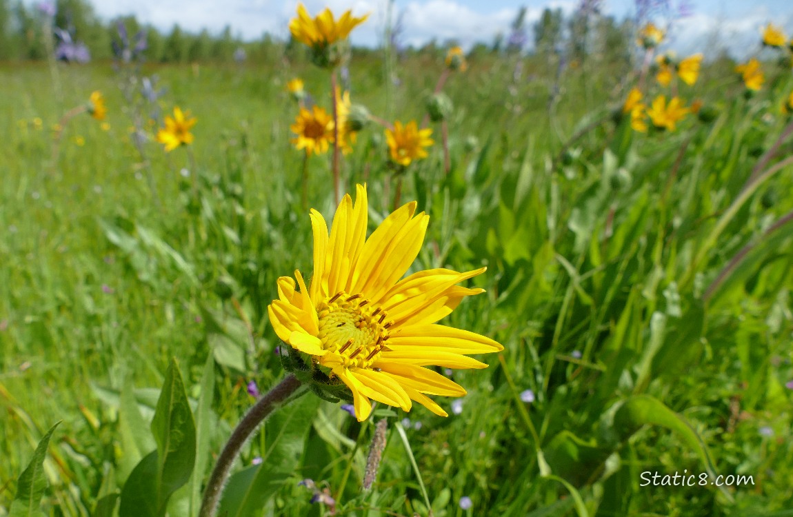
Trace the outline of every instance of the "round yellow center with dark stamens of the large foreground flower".
<path fill-rule="evenodd" d="M 320 303 L 320 339 L 325 350 L 339 355 L 343 365 L 369 368 L 388 345 L 387 315 L 360 294 L 343 291 Z"/>

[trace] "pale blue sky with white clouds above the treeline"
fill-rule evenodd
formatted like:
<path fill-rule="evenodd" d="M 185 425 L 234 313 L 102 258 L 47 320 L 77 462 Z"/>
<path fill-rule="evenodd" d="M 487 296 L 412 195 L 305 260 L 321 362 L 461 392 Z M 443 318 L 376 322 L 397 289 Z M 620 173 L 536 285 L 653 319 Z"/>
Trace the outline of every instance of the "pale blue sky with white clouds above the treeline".
<path fill-rule="evenodd" d="M 634 0 L 602 1 L 605 13 L 618 17 L 634 13 Z M 165 30 L 178 22 L 183 29 L 207 28 L 219 32 L 228 24 L 234 33 L 246 39 L 264 32 L 287 36 L 289 18 L 297 6 L 297 0 L 94 0 L 93 3 L 105 18 L 135 13 L 141 21 Z M 394 0 L 393 5 L 395 13 L 402 13 L 406 43 L 420 45 L 432 38 L 439 41 L 456 38 L 469 46 L 477 40 L 489 43 L 497 33 L 507 32 L 520 6 L 529 8 L 531 25 L 546 6 L 570 11 L 578 3 L 579 0 Z M 331 7 L 335 13 L 347 9 L 355 14 L 370 13 L 366 24 L 355 29 L 352 40 L 356 44 L 376 44 L 385 26 L 389 0 L 304 0 L 304 4 L 312 14 L 324 6 Z M 672 33 L 670 46 L 678 52 L 707 54 L 723 46 L 740 56 L 755 48 L 758 31 L 768 21 L 782 25 L 793 35 L 793 0 L 688 0 L 688 4 L 692 7 L 691 17 L 677 21 Z"/>

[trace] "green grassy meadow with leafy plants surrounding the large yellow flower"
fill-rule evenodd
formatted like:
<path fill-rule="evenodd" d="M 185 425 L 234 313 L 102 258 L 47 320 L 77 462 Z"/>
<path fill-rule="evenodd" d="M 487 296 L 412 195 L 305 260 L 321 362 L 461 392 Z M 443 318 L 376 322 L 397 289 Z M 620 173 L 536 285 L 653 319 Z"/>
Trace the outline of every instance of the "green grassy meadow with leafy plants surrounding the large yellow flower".
<path fill-rule="evenodd" d="M 486 370 L 451 374 L 468 394 L 454 408 L 434 397 L 448 418 L 380 404 L 358 423 L 312 393 L 286 406 L 235 466 L 229 491 L 250 490 L 253 510 L 229 515 L 793 515 L 789 71 L 768 64 L 749 97 L 714 63 L 681 86 L 712 120 L 642 134 L 612 113 L 636 82 L 626 70 L 577 63 L 557 82 L 554 63 L 520 61 L 473 58 L 446 82 L 447 173 L 439 124 L 429 157 L 400 179 L 376 124 L 342 164 L 344 192 L 367 184 L 370 231 L 397 182 L 402 202 L 431 216 L 410 272 L 488 266 L 469 281 L 487 292 L 442 323 L 504 351 L 478 356 Z M 352 98 L 420 121 L 442 70 L 440 53 L 412 56 L 393 84 L 376 55 L 353 59 Z M 157 447 L 149 427 L 172 358 L 198 446 L 168 511 L 197 515 L 214 459 L 255 402 L 248 383 L 263 393 L 284 375 L 267 305 L 279 277 L 312 270 L 285 83 L 305 79 L 327 107 L 328 72 L 144 67 L 167 86 L 163 112 L 197 117 L 193 145 L 165 153 L 148 140 L 145 159 L 109 63 L 57 73 L 59 90 L 46 64 L 0 66 L 0 515 L 59 421 L 45 515 L 117 515 Z M 83 114 L 53 144 L 53 124 L 93 90 L 109 128 Z M 308 162 L 308 205 L 328 222 L 329 156 Z M 362 492 L 382 416 L 387 445 Z M 707 484 L 642 477 L 684 470 Z M 738 474 L 752 483 L 711 484 Z M 335 505 L 312 504 L 305 478 Z"/>

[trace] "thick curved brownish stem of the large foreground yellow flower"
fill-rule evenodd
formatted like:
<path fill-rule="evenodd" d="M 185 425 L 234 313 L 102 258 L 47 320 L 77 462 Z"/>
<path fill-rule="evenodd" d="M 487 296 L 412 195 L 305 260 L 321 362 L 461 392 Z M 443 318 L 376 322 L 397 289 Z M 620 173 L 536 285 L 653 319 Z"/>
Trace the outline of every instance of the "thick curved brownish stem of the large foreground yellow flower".
<path fill-rule="evenodd" d="M 247 412 L 247 415 L 237 424 L 236 429 L 232 432 L 231 438 L 228 438 L 226 446 L 217 458 L 215 469 L 212 471 L 212 476 L 209 477 L 209 483 L 206 485 L 204 492 L 204 500 L 201 501 L 201 511 L 198 512 L 199 517 L 215 517 L 217 511 L 217 504 L 220 502 L 220 493 L 223 490 L 223 484 L 228 477 L 229 471 L 232 469 L 234 460 L 239 454 L 239 450 L 250 438 L 256 427 L 270 415 L 275 409 L 280 408 L 290 395 L 295 393 L 299 388 L 301 382 L 297 380 L 293 374 L 284 377 L 269 393 L 262 396 L 259 401 Z M 262 468 L 264 468 L 262 466 Z"/>

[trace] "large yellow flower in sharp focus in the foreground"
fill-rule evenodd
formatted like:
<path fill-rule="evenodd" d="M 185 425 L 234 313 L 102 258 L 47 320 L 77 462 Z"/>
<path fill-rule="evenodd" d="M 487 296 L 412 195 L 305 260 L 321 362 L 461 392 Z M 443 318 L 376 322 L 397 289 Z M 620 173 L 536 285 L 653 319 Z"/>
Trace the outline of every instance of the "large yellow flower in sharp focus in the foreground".
<path fill-rule="evenodd" d="M 310 286 L 300 271 L 295 271 L 297 283 L 278 278 L 279 299 L 267 308 L 279 338 L 310 355 L 331 382 L 347 385 L 359 422 L 370 416 L 370 399 L 404 411 L 415 400 L 447 416 L 427 395 L 463 396 L 465 389 L 423 366 L 485 368 L 465 354 L 504 349 L 485 336 L 436 324 L 464 297 L 484 292 L 457 285 L 484 273 L 484 267 L 465 273 L 424 270 L 402 278 L 419 254 L 429 222 L 429 216 L 415 212 L 416 201 L 403 205 L 366 239 L 365 186 L 358 185 L 354 205 L 344 196 L 330 236 L 324 218 L 312 210 Z"/>

